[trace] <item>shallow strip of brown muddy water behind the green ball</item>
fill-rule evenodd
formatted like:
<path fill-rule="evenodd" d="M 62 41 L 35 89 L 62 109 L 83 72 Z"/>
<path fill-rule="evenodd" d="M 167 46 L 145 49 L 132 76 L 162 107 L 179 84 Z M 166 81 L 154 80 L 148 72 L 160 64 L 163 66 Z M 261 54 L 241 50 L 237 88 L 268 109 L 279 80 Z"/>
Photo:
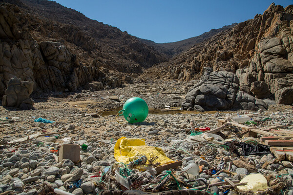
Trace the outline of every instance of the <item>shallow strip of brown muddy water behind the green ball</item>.
<path fill-rule="evenodd" d="M 122 110 L 122 107 L 111 109 L 109 111 L 104 111 L 99 113 L 102 116 L 109 116 L 109 115 L 117 115 L 117 113 Z M 174 107 L 174 108 L 166 108 L 166 109 L 152 109 L 149 108 L 148 114 L 156 114 L 156 115 L 175 115 L 177 113 L 181 114 L 215 114 L 219 111 L 206 111 L 206 112 L 199 112 L 199 111 L 183 111 L 181 107 Z M 236 111 L 224 111 L 224 112 L 219 112 L 219 113 L 233 113 Z"/>

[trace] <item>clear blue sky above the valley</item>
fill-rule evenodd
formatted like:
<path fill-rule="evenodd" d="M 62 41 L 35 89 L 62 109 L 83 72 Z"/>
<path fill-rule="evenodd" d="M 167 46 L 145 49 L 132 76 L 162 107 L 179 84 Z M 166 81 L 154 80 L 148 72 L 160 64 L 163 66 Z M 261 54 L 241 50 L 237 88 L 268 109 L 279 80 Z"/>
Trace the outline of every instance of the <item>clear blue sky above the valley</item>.
<path fill-rule="evenodd" d="M 272 2 L 293 0 L 56 0 L 86 17 L 157 43 L 188 39 L 232 23 L 253 19 Z"/>

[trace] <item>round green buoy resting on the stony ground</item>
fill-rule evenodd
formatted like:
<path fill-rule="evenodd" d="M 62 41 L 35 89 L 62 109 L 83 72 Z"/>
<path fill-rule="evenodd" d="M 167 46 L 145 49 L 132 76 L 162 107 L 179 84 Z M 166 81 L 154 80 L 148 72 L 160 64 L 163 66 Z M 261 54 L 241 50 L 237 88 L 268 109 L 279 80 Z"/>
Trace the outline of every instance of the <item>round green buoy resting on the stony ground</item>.
<path fill-rule="evenodd" d="M 119 114 L 123 112 L 122 114 Z M 142 98 L 128 99 L 121 111 L 118 112 L 119 116 L 124 116 L 129 123 L 142 122 L 148 115 L 148 107 L 146 101 Z"/>

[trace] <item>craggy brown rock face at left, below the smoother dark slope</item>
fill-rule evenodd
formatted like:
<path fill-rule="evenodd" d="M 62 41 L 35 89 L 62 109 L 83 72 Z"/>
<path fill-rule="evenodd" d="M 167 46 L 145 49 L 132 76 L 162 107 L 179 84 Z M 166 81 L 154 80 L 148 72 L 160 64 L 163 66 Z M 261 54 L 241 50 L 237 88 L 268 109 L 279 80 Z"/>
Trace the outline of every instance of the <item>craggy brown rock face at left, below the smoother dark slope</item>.
<path fill-rule="evenodd" d="M 14 77 L 33 82 L 33 89 L 41 93 L 77 91 L 91 81 L 121 86 L 121 78 L 110 77 L 97 61 L 83 65 L 63 43 L 38 43 L 25 28 L 18 27 L 21 24 L 14 12 L 1 5 L 0 10 L 0 39 L 4 40 L 0 42 L 0 96 Z"/>

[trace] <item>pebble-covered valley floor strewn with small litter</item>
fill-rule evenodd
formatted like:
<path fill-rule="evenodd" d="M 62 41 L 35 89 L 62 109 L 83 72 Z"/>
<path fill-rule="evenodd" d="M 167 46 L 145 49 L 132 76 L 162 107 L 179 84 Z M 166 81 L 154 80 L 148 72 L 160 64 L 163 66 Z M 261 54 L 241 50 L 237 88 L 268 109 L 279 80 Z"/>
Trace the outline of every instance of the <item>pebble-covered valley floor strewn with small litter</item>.
<path fill-rule="evenodd" d="M 278 125 L 282 129 L 293 131 L 292 107 L 275 104 L 262 113 L 245 110 L 205 113 L 181 111 L 179 107 L 190 88 L 188 86 L 192 86 L 194 82 L 148 80 L 96 92 L 87 90 L 79 94 L 33 95 L 36 110 L 20 111 L 0 107 L 0 193 L 48 194 L 50 188 L 59 188 L 75 195 L 84 195 L 98 194 L 108 189 L 126 190 L 116 182 L 115 172 L 107 172 L 107 177 L 100 183 L 89 177 L 101 175 L 105 173 L 105 167 L 113 167 L 117 163 L 114 157 L 115 143 L 120 137 L 127 137 L 145 138 L 146 145 L 162 148 L 166 156 L 174 161 L 181 160 L 181 167 L 190 163 L 200 165 L 202 171 L 193 182 L 189 182 L 192 175 L 177 174 L 183 189 L 209 185 L 225 178 L 241 180 L 247 175 L 259 173 L 268 181 L 270 189 L 266 193 L 280 193 L 282 190 L 283 193 L 292 195 L 292 162 L 278 160 L 271 153 L 246 155 L 242 148 L 238 148 L 236 152 L 231 149 L 231 145 L 229 149 L 210 142 L 211 140 L 198 142 L 191 140 L 190 133 L 186 133 L 187 130 L 194 132 L 195 128 L 201 127 L 215 129 L 218 119 L 236 117 L 237 114 L 250 116 L 257 122 L 254 125 L 257 128 L 267 129 Z M 115 116 L 115 112 L 131 97 L 145 99 L 149 108 L 156 110 L 157 114 L 149 114 L 144 122 L 134 124 Z M 54 122 L 35 122 L 39 117 Z M 219 135 L 228 143 L 233 139 L 242 142 L 246 136 L 240 135 L 241 131 L 241 128 L 230 128 L 220 131 Z M 38 133 L 53 134 L 8 144 Z M 259 137 L 260 135 L 253 141 L 259 141 Z M 80 148 L 80 163 L 75 164 L 68 159 L 58 162 L 58 152 L 54 150 L 58 151 L 62 144 L 77 144 L 80 147 L 87 145 L 86 150 Z M 236 161 L 250 166 L 241 167 Z M 221 170 L 229 171 L 219 173 L 219 176 L 211 174 L 212 171 Z M 182 172 L 177 167 L 172 173 L 176 175 Z M 196 180 L 198 178 L 201 179 Z M 148 188 L 155 185 L 150 180 L 147 182 L 131 188 L 146 191 L 144 185 L 149 184 Z M 217 190 L 223 192 L 221 188 L 209 189 L 209 192 Z M 235 190 L 232 188 L 230 194 L 232 191 Z"/>

